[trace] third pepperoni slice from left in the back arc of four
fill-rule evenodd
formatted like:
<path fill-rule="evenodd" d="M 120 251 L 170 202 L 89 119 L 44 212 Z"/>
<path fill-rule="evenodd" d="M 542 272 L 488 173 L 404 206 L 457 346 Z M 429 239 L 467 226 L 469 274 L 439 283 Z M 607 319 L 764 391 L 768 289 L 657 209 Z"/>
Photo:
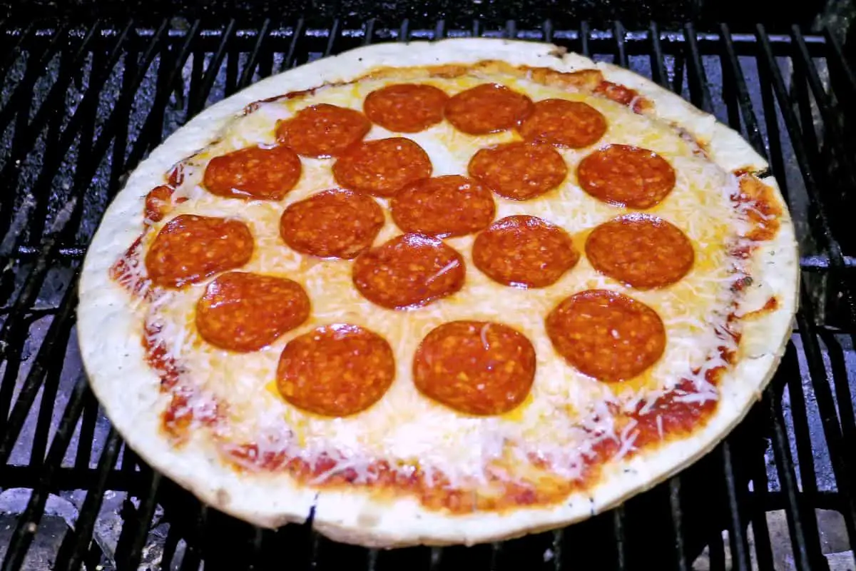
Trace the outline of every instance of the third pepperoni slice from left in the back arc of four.
<path fill-rule="evenodd" d="M 467 134 L 488 134 L 514 127 L 532 111 L 532 99 L 496 83 L 483 83 L 450 98 L 446 119 Z"/>

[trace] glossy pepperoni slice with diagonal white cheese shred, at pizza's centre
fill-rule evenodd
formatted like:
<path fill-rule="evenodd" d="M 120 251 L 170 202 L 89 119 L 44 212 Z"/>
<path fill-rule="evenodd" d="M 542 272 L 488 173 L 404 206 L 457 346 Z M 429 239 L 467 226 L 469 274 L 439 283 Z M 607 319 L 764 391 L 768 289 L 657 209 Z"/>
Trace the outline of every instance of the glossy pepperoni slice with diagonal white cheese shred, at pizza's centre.
<path fill-rule="evenodd" d="M 354 261 L 354 286 L 378 306 L 407 309 L 454 294 L 464 285 L 464 259 L 432 236 L 403 234 Z"/>

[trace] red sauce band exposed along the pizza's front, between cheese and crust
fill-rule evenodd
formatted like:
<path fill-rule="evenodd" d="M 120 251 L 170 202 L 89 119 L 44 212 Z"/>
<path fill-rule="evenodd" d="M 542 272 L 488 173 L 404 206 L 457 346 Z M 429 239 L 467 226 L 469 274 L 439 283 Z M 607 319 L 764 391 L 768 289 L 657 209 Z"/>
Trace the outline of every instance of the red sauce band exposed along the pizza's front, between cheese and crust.
<path fill-rule="evenodd" d="M 734 314 L 729 316 L 729 320 L 734 319 Z M 151 325 L 147 331 L 150 334 L 156 332 Z M 728 332 L 726 335 L 739 341 L 737 334 Z M 181 367 L 166 355 L 163 345 L 152 345 L 148 342 L 149 338 L 150 336 L 144 336 L 149 363 L 163 379 L 161 390 L 172 395 L 172 401 L 163 413 L 163 430 L 175 443 L 181 443 L 187 439 L 188 430 L 194 420 L 210 426 L 223 419 L 223 403 L 203 401 L 204 404 L 200 407 L 197 401 L 194 407 L 188 406 L 189 399 L 195 396 L 194 389 L 182 384 Z M 728 361 L 734 358 L 734 354 L 731 354 L 724 344 L 720 353 Z M 705 378 L 716 386 L 723 371 L 722 367 L 713 368 L 706 373 Z M 695 385 L 684 380 L 673 390 L 660 396 L 654 405 L 647 407 L 644 414 L 641 411 L 645 407 L 645 401 L 640 402 L 632 413 L 620 413 L 613 405 L 611 409 L 615 415 L 616 427 L 619 427 L 617 432 L 621 433 L 621 427 L 627 426 L 631 421 L 636 423 L 626 435 L 633 438 L 633 447 L 627 450 L 625 457 L 630 458 L 640 451 L 654 448 L 675 437 L 684 437 L 703 427 L 716 411 L 718 401 L 692 401 L 691 396 L 695 392 Z M 690 398 L 684 400 L 687 396 Z M 603 464 L 620 449 L 621 443 L 613 438 L 599 440 L 592 454 L 583 458 L 580 479 L 571 481 L 550 474 L 549 462 L 538 457 L 530 456 L 532 466 L 544 470 L 544 477 L 539 478 L 537 483 L 525 480 L 508 481 L 501 473 L 489 467 L 488 485 L 480 485 L 477 491 L 468 487 L 451 487 L 449 478 L 436 470 L 432 471 L 429 479 L 419 467 L 404 463 L 393 466 L 389 461 L 372 461 L 367 467 L 370 477 L 365 479 L 364 474 L 364 478 L 360 479 L 360 473 L 354 468 L 331 473 L 336 467 L 336 461 L 330 455 L 321 455 L 314 463 L 310 463 L 299 456 L 289 456 L 285 450 L 260 452 L 256 443 L 222 442 L 223 455 L 230 458 L 239 470 L 285 472 L 298 481 L 324 488 L 366 486 L 377 493 L 414 496 L 427 509 L 444 509 L 455 514 L 555 504 L 568 497 L 568 494 L 586 490 L 597 482 Z M 323 481 L 314 481 L 318 479 Z"/>

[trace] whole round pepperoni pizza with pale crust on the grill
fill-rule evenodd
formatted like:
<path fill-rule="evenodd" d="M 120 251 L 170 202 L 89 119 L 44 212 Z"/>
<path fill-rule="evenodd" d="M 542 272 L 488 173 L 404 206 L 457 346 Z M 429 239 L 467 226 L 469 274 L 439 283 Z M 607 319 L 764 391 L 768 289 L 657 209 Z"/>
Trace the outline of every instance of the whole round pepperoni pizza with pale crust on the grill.
<path fill-rule="evenodd" d="M 260 526 L 563 526 L 704 455 L 790 335 L 794 228 L 740 134 L 554 45 L 374 45 L 211 106 L 80 281 L 128 444 Z"/>

